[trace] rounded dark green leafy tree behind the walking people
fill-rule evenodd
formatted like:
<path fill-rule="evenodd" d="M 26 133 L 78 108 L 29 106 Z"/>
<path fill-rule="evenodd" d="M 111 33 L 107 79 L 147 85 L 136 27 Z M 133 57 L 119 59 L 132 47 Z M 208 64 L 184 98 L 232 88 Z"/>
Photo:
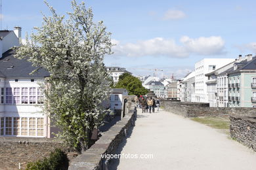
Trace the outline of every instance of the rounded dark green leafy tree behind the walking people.
<path fill-rule="evenodd" d="M 148 90 L 142 86 L 139 78 L 124 73 L 119 76 L 119 81 L 114 88 L 126 88 L 129 91 L 129 95 L 146 95 Z"/>

